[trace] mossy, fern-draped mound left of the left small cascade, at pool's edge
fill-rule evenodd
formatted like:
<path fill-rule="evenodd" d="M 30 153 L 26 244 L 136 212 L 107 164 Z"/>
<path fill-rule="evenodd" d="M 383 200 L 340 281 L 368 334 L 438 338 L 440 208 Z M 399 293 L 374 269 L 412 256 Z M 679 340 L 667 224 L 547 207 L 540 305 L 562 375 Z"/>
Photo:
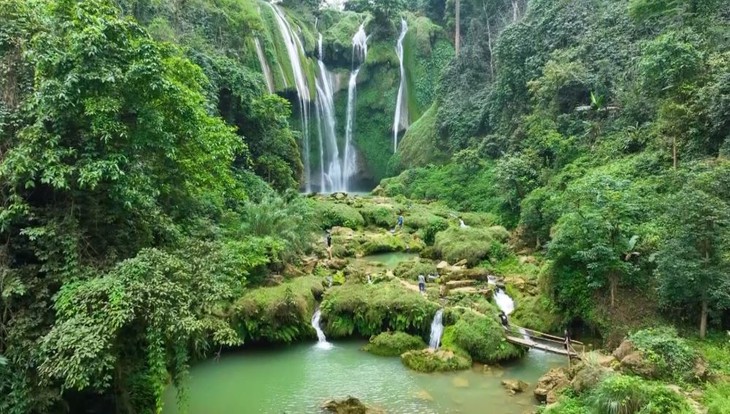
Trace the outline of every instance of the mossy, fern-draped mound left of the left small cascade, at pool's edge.
<path fill-rule="evenodd" d="M 315 298 L 322 292 L 322 279 L 316 276 L 251 289 L 231 307 L 228 318 L 245 342 L 291 343 L 310 338 Z"/>

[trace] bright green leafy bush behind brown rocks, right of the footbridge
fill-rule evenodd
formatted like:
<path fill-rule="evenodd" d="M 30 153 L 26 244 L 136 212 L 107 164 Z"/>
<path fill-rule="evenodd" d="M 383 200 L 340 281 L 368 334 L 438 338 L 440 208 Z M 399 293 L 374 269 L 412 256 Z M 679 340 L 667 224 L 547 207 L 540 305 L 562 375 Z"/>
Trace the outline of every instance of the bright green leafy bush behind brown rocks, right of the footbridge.
<path fill-rule="evenodd" d="M 661 377 L 694 380 L 693 367 L 697 352 L 671 327 L 643 329 L 630 335 L 634 346 L 657 366 Z"/>

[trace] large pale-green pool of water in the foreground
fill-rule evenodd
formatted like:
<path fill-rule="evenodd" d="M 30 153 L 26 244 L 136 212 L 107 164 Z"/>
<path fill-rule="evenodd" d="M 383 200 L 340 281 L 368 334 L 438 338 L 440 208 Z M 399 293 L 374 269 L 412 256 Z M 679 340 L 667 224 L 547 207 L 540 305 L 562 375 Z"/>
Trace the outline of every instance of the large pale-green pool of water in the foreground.
<path fill-rule="evenodd" d="M 523 414 L 534 405 L 532 392 L 510 396 L 502 379 L 534 386 L 559 356 L 530 352 L 522 360 L 488 369 L 420 374 L 399 358 L 360 351 L 361 342 L 338 342 L 329 350 L 302 344 L 277 350 L 226 355 L 192 369 L 190 414 L 319 413 L 323 401 L 353 395 L 391 414 Z M 163 414 L 182 413 L 175 390 L 165 395 Z"/>

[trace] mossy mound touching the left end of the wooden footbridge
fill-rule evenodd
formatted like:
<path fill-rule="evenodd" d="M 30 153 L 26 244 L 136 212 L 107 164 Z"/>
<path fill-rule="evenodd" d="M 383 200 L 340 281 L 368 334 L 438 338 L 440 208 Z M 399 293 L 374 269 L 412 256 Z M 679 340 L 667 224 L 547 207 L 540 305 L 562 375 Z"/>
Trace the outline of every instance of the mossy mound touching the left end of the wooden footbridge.
<path fill-rule="evenodd" d="M 525 350 L 507 342 L 496 317 L 463 310 L 456 323 L 444 329 L 444 346 L 455 345 L 474 361 L 492 364 L 524 355 Z"/>

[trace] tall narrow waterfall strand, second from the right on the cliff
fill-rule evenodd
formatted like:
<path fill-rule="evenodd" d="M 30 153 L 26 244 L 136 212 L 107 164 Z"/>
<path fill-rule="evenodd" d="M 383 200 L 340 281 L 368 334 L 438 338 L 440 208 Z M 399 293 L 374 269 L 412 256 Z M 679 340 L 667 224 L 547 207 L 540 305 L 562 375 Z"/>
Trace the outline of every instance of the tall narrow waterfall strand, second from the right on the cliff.
<path fill-rule="evenodd" d="M 355 98 L 357 97 L 357 75 L 360 73 L 362 64 L 368 55 L 368 36 L 365 33 L 365 24 L 361 24 L 355 36 L 352 38 L 352 65 L 350 81 L 347 84 L 347 123 L 345 125 L 345 157 L 342 164 L 342 179 L 344 191 L 347 191 L 347 184 L 357 171 L 357 155 L 355 154 L 354 127 L 355 127 Z"/>

